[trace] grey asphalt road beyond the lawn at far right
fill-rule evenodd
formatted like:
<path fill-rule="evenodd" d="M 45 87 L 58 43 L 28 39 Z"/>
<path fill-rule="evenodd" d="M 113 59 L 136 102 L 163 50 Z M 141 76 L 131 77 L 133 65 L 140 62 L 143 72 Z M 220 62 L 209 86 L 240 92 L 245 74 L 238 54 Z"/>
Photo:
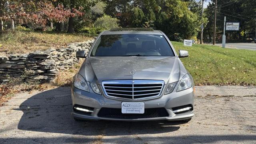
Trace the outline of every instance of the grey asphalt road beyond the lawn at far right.
<path fill-rule="evenodd" d="M 222 44 L 216 44 L 222 46 Z M 226 43 L 226 48 L 236 48 L 244 50 L 256 50 L 256 43 Z"/>

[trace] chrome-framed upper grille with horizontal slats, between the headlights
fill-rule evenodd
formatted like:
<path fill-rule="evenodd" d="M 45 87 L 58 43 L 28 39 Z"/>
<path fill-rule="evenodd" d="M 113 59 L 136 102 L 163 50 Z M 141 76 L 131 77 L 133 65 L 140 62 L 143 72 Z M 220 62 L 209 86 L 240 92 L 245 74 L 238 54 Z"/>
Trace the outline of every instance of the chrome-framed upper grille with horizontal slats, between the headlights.
<path fill-rule="evenodd" d="M 162 80 L 106 80 L 102 82 L 108 97 L 140 100 L 160 96 L 164 87 Z"/>

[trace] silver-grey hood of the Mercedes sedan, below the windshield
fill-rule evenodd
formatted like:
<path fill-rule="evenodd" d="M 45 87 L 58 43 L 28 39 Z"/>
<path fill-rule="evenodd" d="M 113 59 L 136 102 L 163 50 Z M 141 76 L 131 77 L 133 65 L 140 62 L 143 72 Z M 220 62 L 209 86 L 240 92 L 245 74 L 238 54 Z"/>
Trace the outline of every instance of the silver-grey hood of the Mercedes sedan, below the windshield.
<path fill-rule="evenodd" d="M 86 81 L 101 84 L 104 80 L 163 80 L 177 82 L 186 74 L 177 57 L 128 56 L 88 57 L 79 74 Z"/>

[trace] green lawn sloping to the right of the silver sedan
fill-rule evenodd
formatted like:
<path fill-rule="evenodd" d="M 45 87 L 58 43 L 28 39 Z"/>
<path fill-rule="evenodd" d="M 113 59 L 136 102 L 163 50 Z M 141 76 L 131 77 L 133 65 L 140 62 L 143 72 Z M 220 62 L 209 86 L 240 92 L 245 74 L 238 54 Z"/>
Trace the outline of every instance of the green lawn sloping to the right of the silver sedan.
<path fill-rule="evenodd" d="M 187 50 L 181 58 L 196 85 L 256 85 L 256 51 L 172 42 L 176 52 Z"/>

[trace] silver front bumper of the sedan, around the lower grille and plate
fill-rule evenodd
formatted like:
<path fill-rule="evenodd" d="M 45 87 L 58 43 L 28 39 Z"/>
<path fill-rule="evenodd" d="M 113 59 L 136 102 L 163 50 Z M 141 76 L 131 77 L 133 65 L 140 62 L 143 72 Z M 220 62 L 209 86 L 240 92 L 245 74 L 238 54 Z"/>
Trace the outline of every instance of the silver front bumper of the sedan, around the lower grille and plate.
<path fill-rule="evenodd" d="M 90 88 L 90 86 L 89 86 Z M 74 111 L 72 112 L 72 116 L 77 119 L 82 120 L 115 120 L 115 121 L 147 121 L 147 120 L 186 120 L 192 118 L 194 116 L 193 110 L 188 112 L 183 112 L 179 114 L 175 114 L 172 111 L 172 108 L 191 105 L 193 107 L 194 104 L 194 90 L 193 87 L 187 90 L 183 90 L 180 92 L 172 92 L 170 94 L 164 95 L 164 92 L 167 86 L 164 86 L 162 94 L 157 98 L 145 99 L 145 100 L 120 100 L 109 98 L 105 96 L 102 87 L 99 86 L 102 95 L 95 94 L 90 88 L 90 92 L 86 92 L 84 90 L 80 90 L 72 87 L 72 104 L 86 106 L 92 108 L 92 112 L 88 114 L 84 114 L 81 112 Z M 176 90 L 176 88 L 174 89 Z M 154 117 L 154 118 L 112 118 L 112 117 L 99 117 L 98 113 L 101 108 L 118 108 L 121 110 L 122 102 L 144 102 L 145 110 L 150 108 L 165 108 L 168 116 L 164 117 Z"/>

